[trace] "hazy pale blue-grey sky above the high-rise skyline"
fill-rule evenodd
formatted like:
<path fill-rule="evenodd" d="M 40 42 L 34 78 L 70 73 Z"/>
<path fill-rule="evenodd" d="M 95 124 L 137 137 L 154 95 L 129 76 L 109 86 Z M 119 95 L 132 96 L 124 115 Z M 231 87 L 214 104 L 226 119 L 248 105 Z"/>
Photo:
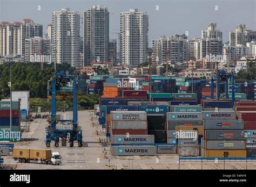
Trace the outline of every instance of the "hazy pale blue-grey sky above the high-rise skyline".
<path fill-rule="evenodd" d="M 223 31 L 224 42 L 228 32 L 242 23 L 256 30 L 256 0 L 0 0 L 0 21 L 22 21 L 30 18 L 46 26 L 51 23 L 52 11 L 68 7 L 81 15 L 92 5 L 106 5 L 110 12 L 110 39 L 117 39 L 120 12 L 137 8 L 149 15 L 149 45 L 160 35 L 184 34 L 199 38 L 201 30 L 211 23 Z M 41 10 L 38 11 L 38 5 Z M 218 10 L 215 10 L 215 5 Z M 156 10 L 159 6 L 159 10 Z"/>

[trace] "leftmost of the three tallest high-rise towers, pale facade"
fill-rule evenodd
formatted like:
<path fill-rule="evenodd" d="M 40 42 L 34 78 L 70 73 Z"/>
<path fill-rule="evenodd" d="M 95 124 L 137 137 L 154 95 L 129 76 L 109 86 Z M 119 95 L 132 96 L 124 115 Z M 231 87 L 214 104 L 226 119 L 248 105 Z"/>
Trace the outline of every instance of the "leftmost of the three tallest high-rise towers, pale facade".
<path fill-rule="evenodd" d="M 52 12 L 52 61 L 80 67 L 80 15 L 69 8 Z"/>

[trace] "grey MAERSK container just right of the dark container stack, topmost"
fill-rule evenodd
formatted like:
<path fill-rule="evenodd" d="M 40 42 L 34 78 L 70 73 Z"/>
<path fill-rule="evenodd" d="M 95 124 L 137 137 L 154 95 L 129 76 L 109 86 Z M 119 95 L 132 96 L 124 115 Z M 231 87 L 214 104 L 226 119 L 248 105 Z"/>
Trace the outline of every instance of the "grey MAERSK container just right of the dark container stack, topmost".
<path fill-rule="evenodd" d="M 201 121 L 201 112 L 167 112 L 168 121 Z"/>

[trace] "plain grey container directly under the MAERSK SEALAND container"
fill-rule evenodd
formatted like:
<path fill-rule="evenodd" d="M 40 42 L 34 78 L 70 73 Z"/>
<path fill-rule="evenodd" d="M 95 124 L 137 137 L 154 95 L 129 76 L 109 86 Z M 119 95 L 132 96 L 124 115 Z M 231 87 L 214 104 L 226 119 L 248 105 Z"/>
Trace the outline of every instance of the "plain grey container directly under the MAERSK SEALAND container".
<path fill-rule="evenodd" d="M 112 130 L 147 129 L 147 121 L 111 121 Z"/>

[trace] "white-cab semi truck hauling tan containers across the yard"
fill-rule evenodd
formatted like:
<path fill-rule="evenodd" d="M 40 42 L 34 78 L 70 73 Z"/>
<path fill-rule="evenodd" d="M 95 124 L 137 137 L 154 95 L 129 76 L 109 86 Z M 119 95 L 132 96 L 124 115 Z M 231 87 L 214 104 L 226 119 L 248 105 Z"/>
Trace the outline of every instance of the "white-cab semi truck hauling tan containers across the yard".
<path fill-rule="evenodd" d="M 19 149 L 13 150 L 14 160 L 18 160 L 21 163 L 34 162 L 59 165 L 62 163 L 62 157 L 58 152 L 51 152 L 51 150 L 38 150 L 38 149 Z"/>

